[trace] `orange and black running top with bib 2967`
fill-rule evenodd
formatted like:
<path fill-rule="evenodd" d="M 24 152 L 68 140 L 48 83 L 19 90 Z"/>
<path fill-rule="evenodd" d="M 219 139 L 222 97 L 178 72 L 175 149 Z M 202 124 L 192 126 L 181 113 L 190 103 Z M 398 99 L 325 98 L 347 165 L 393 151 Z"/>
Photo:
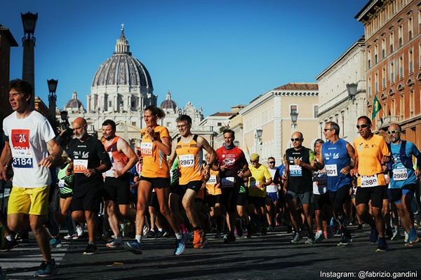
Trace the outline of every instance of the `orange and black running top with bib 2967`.
<path fill-rule="evenodd" d="M 175 153 L 180 169 L 180 185 L 187 185 L 192 181 L 203 180 L 203 149 L 197 145 L 197 135 L 187 143 L 180 138 Z"/>

